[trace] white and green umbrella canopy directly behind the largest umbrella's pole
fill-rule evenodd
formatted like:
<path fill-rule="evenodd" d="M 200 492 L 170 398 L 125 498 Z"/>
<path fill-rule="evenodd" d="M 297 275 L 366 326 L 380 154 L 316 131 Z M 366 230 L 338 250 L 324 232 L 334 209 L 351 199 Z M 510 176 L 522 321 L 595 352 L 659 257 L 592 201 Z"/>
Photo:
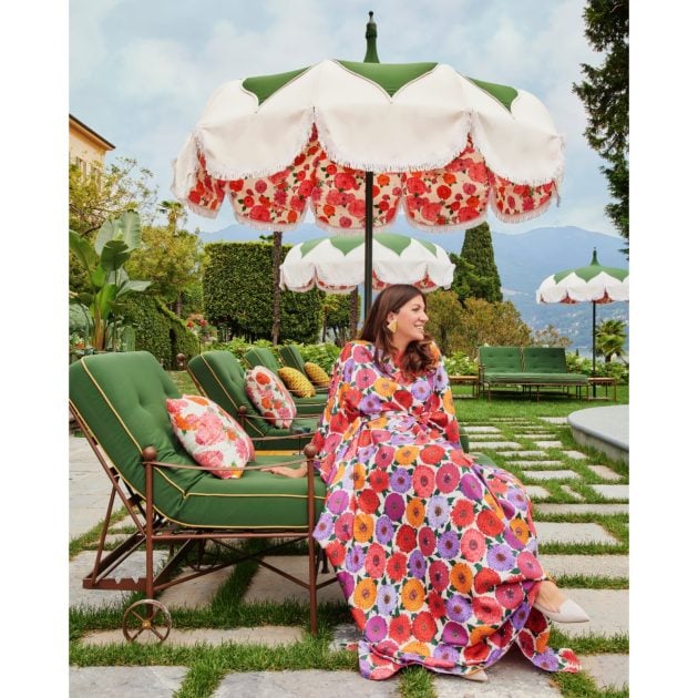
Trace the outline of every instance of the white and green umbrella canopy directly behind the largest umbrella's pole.
<path fill-rule="evenodd" d="M 294 245 L 281 264 L 281 288 L 349 294 L 365 281 L 366 245 L 359 237 L 324 237 Z M 412 284 L 423 291 L 450 288 L 455 265 L 442 247 L 397 233 L 373 236 L 372 287 Z"/>

